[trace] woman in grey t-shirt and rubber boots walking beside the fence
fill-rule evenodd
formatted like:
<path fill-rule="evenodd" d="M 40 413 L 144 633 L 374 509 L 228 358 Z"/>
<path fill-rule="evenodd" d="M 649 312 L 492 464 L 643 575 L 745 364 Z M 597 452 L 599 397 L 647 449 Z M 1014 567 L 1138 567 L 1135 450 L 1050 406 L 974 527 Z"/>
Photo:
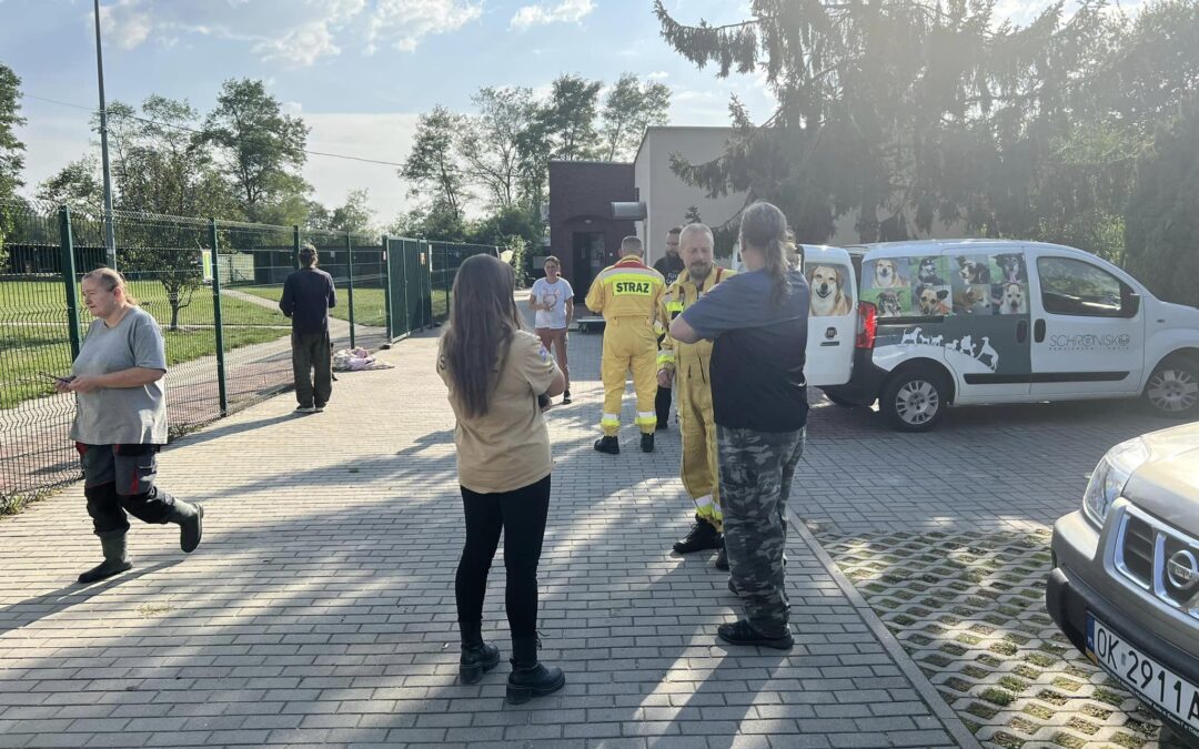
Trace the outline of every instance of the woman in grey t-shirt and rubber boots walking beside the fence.
<path fill-rule="evenodd" d="M 60 393 L 76 394 L 70 436 L 83 466 L 88 514 L 104 560 L 79 575 L 96 582 L 133 567 L 126 513 L 152 524 L 180 527 L 180 546 L 191 554 L 204 533 L 204 506 L 185 502 L 155 484 L 158 451 L 167 443 L 167 400 L 162 377 L 167 352 L 162 331 L 138 307 L 125 277 L 100 268 L 83 277 L 83 302 L 96 318 L 72 366 L 58 380 Z"/>

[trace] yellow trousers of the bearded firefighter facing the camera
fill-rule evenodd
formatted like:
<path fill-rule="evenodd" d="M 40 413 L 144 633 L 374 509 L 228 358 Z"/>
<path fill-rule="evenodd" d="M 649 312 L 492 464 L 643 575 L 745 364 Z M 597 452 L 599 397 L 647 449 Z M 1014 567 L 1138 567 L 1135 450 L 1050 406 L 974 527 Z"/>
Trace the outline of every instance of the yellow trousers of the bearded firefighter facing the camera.
<path fill-rule="evenodd" d="M 695 502 L 695 515 L 717 531 L 723 531 L 712 388 L 701 376 L 700 367 L 688 369 L 691 372 L 675 375 L 674 382 L 679 397 L 679 427 L 682 430 L 682 485 Z"/>

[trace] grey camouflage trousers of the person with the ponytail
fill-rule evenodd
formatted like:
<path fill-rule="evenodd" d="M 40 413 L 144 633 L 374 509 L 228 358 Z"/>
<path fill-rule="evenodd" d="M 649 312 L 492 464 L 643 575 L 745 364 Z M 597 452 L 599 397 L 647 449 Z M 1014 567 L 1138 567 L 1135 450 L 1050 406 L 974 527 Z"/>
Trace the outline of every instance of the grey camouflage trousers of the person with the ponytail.
<path fill-rule="evenodd" d="M 729 572 L 746 618 L 766 636 L 788 630 L 787 497 L 805 431 L 716 428 Z"/>

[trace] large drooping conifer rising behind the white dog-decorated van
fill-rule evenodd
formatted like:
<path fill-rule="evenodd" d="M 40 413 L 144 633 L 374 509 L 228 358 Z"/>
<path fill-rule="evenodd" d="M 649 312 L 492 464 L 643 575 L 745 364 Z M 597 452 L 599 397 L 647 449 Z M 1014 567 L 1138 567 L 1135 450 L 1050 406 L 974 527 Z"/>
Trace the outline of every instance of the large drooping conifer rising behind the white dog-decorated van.
<path fill-rule="evenodd" d="M 759 126 L 734 99 L 724 157 L 676 159 L 712 194 L 778 203 L 801 241 L 857 217 L 863 241 L 936 221 L 1005 234 L 1028 224 L 1035 167 L 1068 114 L 1070 81 L 1097 67 L 1093 4 L 1061 2 L 1026 28 L 993 0 L 753 0 L 751 18 L 686 25 L 655 12 L 685 58 L 721 77 L 761 72 L 778 109 Z"/>

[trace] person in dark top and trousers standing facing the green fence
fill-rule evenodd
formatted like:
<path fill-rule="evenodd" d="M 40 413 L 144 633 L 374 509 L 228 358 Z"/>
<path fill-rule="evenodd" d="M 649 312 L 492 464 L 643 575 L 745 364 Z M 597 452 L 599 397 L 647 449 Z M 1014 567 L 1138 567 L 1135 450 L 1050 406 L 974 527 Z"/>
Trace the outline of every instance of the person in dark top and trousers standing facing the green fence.
<path fill-rule="evenodd" d="M 291 318 L 291 370 L 296 413 L 324 411 L 333 392 L 333 357 L 329 342 L 329 309 L 337 307 L 333 277 L 317 267 L 317 248 L 300 249 L 299 271 L 283 282 L 279 309 Z"/>

